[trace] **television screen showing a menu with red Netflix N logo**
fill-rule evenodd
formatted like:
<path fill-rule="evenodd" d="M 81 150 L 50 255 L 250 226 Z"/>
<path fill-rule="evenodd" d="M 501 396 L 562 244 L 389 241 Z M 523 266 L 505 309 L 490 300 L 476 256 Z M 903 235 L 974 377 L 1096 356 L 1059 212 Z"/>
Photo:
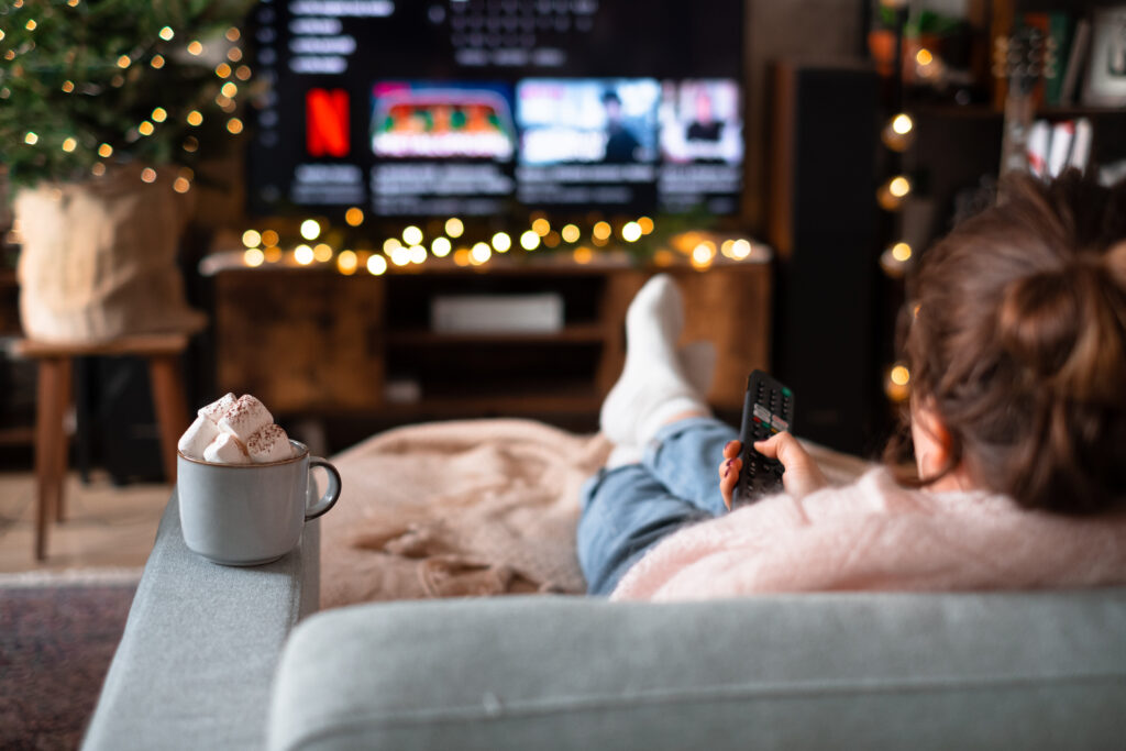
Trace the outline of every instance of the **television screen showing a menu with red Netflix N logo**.
<path fill-rule="evenodd" d="M 738 212 L 742 0 L 270 0 L 257 214 Z"/>

